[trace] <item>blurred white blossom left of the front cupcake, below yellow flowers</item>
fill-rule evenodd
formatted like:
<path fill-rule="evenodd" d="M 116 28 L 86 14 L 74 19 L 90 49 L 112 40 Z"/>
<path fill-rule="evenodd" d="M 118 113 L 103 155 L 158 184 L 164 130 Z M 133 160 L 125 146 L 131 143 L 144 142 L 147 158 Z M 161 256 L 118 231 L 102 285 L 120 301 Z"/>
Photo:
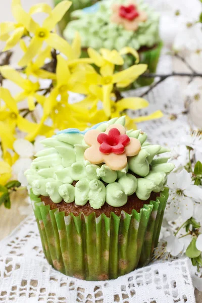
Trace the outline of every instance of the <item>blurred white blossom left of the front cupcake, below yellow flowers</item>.
<path fill-rule="evenodd" d="M 22 186 L 28 184 L 24 172 L 30 167 L 33 156 L 43 148 L 40 141 L 44 138 L 45 136 L 37 136 L 34 144 L 25 139 L 17 139 L 14 142 L 14 150 L 20 158 L 14 163 L 12 170 Z"/>

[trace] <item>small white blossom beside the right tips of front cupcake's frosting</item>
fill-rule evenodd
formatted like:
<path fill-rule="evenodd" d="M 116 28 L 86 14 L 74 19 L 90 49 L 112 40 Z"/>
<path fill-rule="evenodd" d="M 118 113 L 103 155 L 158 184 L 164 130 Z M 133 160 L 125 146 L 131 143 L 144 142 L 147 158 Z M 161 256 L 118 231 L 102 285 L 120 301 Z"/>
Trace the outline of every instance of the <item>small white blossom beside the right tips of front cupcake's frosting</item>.
<path fill-rule="evenodd" d="M 169 162 L 172 162 L 175 165 L 175 170 L 180 166 L 185 166 L 188 162 L 186 146 L 179 145 L 172 148 Z"/>

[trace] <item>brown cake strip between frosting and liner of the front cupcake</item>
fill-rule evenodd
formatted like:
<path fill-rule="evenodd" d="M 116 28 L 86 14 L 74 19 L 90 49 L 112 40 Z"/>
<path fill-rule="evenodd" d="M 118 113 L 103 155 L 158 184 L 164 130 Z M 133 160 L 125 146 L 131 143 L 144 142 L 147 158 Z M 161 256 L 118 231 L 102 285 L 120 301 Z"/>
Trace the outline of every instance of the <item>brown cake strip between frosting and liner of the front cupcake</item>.
<path fill-rule="evenodd" d="M 74 202 L 66 203 L 64 200 L 62 200 L 61 203 L 56 204 L 49 197 L 40 196 L 40 198 L 41 201 L 44 201 L 45 205 L 49 205 L 51 207 L 51 210 L 57 208 L 60 212 L 65 212 L 65 216 L 68 216 L 70 213 L 76 217 L 79 216 L 80 213 L 83 213 L 85 216 L 95 213 L 95 216 L 99 217 L 99 215 L 104 213 L 109 218 L 111 213 L 120 216 L 121 211 L 131 214 L 132 210 L 134 209 L 139 213 L 144 204 L 149 204 L 151 200 L 156 200 L 158 196 L 160 196 L 160 192 L 151 192 L 149 199 L 144 201 L 140 200 L 136 194 L 133 193 L 132 195 L 128 196 L 127 203 L 122 207 L 113 207 L 105 203 L 102 208 L 98 210 L 91 208 L 88 202 L 84 206 L 78 206 Z"/>

